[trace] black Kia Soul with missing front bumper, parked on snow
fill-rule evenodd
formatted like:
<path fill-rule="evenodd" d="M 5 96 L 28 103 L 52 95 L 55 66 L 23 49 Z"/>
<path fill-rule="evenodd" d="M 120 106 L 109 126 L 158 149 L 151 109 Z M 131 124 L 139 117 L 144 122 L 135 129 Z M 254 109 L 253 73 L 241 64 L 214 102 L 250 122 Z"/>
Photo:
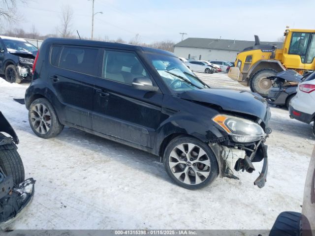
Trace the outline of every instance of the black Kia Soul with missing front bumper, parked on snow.
<path fill-rule="evenodd" d="M 263 160 L 254 184 L 265 185 L 270 110 L 260 95 L 210 89 L 174 54 L 119 43 L 46 39 L 33 72 L 25 100 L 41 138 L 68 125 L 153 153 L 188 189 Z"/>

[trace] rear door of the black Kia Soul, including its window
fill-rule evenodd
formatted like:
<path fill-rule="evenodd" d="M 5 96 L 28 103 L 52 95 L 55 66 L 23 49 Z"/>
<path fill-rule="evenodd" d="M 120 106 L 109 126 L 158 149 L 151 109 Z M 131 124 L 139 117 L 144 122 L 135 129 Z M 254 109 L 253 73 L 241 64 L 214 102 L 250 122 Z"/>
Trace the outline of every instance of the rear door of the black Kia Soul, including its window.
<path fill-rule="evenodd" d="M 54 45 L 49 81 L 62 104 L 66 124 L 92 129 L 94 81 L 98 48 Z"/>

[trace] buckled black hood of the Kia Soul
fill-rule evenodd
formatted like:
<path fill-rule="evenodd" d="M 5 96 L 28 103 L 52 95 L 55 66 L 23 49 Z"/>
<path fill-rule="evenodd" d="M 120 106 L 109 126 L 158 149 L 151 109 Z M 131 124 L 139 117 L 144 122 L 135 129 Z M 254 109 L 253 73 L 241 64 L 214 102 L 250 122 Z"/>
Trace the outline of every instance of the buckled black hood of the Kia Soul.
<path fill-rule="evenodd" d="M 265 123 L 270 118 L 266 100 L 257 93 L 233 89 L 198 89 L 183 92 L 182 99 L 214 104 L 223 110 L 252 115 Z"/>

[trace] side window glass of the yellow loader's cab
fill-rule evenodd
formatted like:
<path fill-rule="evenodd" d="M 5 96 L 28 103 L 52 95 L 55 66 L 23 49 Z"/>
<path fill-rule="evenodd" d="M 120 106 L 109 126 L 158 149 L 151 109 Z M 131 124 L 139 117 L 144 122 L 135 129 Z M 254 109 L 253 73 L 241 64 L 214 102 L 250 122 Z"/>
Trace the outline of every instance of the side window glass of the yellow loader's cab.
<path fill-rule="evenodd" d="M 289 54 L 301 56 L 301 60 L 302 62 L 304 62 L 310 36 L 311 33 L 293 32 L 289 48 Z"/>

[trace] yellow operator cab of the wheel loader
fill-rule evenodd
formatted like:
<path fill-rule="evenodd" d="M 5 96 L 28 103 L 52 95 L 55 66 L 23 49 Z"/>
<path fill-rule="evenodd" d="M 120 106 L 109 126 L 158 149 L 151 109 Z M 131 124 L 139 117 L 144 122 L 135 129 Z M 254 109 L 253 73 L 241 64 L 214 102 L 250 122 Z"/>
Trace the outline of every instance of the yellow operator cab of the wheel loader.
<path fill-rule="evenodd" d="M 315 69 L 315 30 L 286 29 L 282 63 L 296 70 Z"/>

